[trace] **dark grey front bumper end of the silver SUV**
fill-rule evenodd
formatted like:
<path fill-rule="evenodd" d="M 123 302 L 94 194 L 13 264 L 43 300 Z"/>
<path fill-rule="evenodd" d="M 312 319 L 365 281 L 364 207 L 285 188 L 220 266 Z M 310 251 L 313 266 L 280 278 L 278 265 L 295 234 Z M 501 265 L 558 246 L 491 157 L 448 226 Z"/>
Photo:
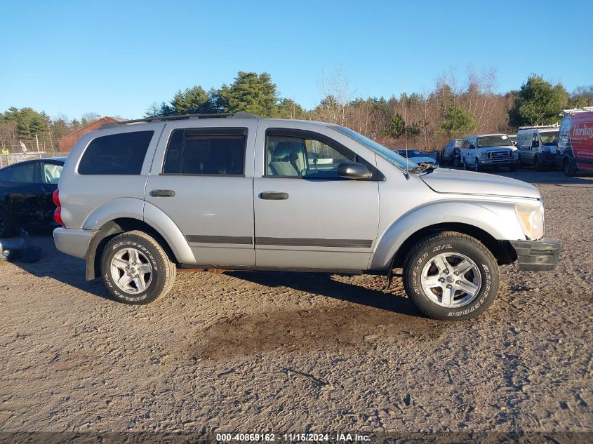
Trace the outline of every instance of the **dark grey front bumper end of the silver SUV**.
<path fill-rule="evenodd" d="M 560 259 L 560 241 L 543 238 L 539 241 L 510 241 L 517 252 L 519 269 L 546 271 L 556 268 Z"/>

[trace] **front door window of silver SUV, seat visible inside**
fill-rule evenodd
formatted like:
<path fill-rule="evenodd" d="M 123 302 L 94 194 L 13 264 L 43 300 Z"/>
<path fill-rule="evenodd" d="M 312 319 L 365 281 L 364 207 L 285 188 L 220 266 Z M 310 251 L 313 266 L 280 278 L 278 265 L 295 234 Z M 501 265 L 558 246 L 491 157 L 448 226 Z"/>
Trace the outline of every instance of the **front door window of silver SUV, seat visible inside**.
<path fill-rule="evenodd" d="M 267 135 L 265 164 L 267 177 L 338 178 L 338 166 L 356 161 L 314 137 Z"/>

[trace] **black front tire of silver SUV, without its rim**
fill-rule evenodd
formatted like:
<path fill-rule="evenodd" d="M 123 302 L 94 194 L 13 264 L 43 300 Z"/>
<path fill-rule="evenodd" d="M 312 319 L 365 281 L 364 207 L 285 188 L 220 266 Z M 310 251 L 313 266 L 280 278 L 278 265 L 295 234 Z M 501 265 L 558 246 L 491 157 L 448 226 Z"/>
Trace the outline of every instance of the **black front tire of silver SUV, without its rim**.
<path fill-rule="evenodd" d="M 441 253 L 460 253 L 469 257 L 479 267 L 482 287 L 477 297 L 469 304 L 459 308 L 441 307 L 432 302 L 420 284 L 420 274 L 425 264 Z M 481 314 L 495 300 L 499 285 L 498 264 L 492 255 L 467 238 L 442 236 L 433 238 L 406 260 L 404 266 L 404 286 L 414 304 L 431 318 L 443 320 L 462 320 Z"/>

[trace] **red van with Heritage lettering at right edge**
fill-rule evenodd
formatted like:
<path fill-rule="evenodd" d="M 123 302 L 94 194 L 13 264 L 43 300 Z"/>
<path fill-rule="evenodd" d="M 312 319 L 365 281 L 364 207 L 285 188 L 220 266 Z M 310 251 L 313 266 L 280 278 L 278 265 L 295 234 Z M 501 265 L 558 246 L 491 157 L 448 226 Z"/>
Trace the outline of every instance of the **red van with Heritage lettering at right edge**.
<path fill-rule="evenodd" d="M 593 107 L 564 112 L 554 161 L 567 176 L 593 173 Z"/>

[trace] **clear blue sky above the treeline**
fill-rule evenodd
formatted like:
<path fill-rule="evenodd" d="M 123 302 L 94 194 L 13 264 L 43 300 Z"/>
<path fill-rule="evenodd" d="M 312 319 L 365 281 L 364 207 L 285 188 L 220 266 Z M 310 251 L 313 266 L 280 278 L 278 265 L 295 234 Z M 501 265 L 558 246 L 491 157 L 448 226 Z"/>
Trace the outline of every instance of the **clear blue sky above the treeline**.
<path fill-rule="evenodd" d="M 0 112 L 138 118 L 178 89 L 268 72 L 306 108 L 335 69 L 356 96 L 429 91 L 493 67 L 593 84 L 592 1 L 9 1 L 0 13 Z"/>

